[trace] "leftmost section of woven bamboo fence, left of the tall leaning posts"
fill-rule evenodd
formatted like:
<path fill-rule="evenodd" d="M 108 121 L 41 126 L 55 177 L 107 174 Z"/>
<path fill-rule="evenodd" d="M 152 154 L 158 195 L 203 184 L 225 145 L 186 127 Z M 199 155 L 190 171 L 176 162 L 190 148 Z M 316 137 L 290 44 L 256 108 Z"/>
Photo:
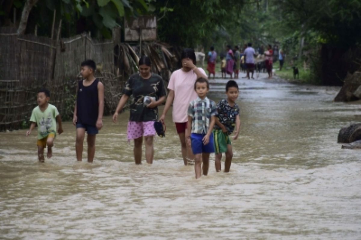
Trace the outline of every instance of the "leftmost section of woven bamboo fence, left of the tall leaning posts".
<path fill-rule="evenodd" d="M 34 92 L 52 74 L 53 41 L 31 35 L 17 36 L 15 30 L 0 30 L 0 129 L 18 128 L 36 105 Z M 5 46 L 5 47 L 4 47 Z M 53 52 L 53 53 L 52 53 Z"/>

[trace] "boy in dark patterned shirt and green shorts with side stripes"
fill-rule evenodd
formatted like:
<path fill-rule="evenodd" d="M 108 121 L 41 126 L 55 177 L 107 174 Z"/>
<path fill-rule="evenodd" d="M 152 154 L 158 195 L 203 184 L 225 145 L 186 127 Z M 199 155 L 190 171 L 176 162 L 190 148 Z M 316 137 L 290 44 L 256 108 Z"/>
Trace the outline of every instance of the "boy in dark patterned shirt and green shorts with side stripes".
<path fill-rule="evenodd" d="M 225 172 L 229 172 L 231 167 L 233 152 L 230 140 L 234 127 L 236 127 L 233 140 L 238 138 L 239 128 L 241 125 L 239 119 L 239 107 L 236 104 L 238 99 L 238 84 L 234 80 L 229 80 L 226 84 L 227 99 L 222 99 L 217 104 L 218 118 L 214 126 L 214 148 L 216 159 L 214 165 L 216 172 L 221 171 L 222 153 L 226 153 Z"/>

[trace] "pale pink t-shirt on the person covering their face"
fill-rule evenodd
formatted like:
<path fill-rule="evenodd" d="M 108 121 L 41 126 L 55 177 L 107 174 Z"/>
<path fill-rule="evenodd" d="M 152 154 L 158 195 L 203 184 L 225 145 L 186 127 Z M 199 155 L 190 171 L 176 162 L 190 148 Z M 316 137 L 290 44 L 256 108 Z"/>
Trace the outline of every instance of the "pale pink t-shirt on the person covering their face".
<path fill-rule="evenodd" d="M 207 76 L 203 68 L 198 68 L 204 76 Z M 168 83 L 168 89 L 174 91 L 173 101 L 173 122 L 187 122 L 187 111 L 191 101 L 195 100 L 198 95 L 194 91 L 194 83 L 197 75 L 193 70 L 183 72 L 178 69 L 172 73 Z"/>

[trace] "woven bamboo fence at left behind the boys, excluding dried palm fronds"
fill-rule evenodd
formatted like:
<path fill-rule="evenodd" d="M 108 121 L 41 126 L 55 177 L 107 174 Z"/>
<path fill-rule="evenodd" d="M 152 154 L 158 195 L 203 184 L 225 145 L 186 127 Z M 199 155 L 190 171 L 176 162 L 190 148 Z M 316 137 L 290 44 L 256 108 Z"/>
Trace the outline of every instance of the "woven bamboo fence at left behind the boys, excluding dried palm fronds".
<path fill-rule="evenodd" d="M 69 115 L 85 59 L 103 64 L 109 73 L 114 71 L 113 43 L 94 41 L 86 34 L 56 42 L 45 37 L 17 36 L 16 29 L 0 28 L 0 42 L 0 131 L 18 129 L 29 121 L 42 87 L 50 90 L 50 103 L 61 114 Z M 114 76 L 111 81 L 114 85 Z"/>

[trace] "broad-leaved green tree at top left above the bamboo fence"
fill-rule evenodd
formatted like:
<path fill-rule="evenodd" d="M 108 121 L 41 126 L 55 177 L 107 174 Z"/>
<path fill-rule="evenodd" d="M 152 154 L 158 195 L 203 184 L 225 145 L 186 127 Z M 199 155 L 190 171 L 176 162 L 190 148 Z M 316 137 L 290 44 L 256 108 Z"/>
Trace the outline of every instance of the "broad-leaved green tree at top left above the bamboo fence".
<path fill-rule="evenodd" d="M 56 21 L 65 22 L 68 35 L 91 31 L 110 38 L 111 30 L 122 23 L 123 17 L 146 14 L 148 6 L 149 2 L 144 0 L 3 0 L 0 1 L 0 24 L 11 24 L 15 8 L 22 12 L 21 18 L 17 18 L 20 34 L 33 32 L 38 27 L 40 34 L 50 36 L 56 11 Z"/>

